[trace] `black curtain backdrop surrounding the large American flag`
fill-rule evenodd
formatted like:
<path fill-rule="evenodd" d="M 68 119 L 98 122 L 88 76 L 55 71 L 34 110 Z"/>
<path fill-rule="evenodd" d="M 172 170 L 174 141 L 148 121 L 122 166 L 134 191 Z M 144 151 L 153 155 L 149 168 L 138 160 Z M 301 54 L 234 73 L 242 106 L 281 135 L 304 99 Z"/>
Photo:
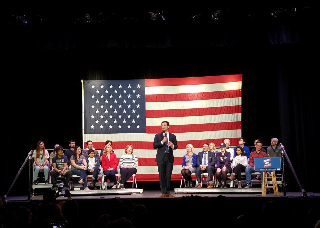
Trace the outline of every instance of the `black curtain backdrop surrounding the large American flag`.
<path fill-rule="evenodd" d="M 68 149 L 69 140 L 83 145 L 81 79 L 228 74 L 243 74 L 245 145 L 260 138 L 266 146 L 278 138 L 303 188 L 319 191 L 314 180 L 314 24 L 310 14 L 300 19 L 8 25 L 2 66 L 6 137 L 1 194 L 38 140 L 44 140 L 46 149 L 55 143 Z M 287 163 L 285 170 L 288 190 L 300 191 Z M 10 195 L 28 193 L 27 172 L 24 168 Z"/>

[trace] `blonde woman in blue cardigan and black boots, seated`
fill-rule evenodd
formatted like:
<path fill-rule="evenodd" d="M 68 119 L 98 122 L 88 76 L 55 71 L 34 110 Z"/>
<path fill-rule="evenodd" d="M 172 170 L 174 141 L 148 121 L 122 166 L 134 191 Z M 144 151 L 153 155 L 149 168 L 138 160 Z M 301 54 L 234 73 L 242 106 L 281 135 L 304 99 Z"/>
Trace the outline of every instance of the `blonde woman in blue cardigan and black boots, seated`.
<path fill-rule="evenodd" d="M 181 174 L 186 180 L 186 188 L 192 188 L 191 174 L 196 173 L 197 155 L 192 144 L 187 144 L 186 155 L 183 156 Z"/>

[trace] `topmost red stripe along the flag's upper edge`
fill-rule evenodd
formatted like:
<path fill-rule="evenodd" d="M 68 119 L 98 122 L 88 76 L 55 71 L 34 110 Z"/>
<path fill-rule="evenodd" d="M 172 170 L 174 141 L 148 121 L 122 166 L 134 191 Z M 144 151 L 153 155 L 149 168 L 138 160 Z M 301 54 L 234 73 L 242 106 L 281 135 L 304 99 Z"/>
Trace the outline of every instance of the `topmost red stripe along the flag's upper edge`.
<path fill-rule="evenodd" d="M 146 86 L 171 86 L 171 85 L 201 85 L 215 84 L 225 82 L 238 82 L 242 80 L 241 74 L 235 75 L 220 75 L 206 77 L 179 77 L 179 78 L 158 78 L 145 79 Z"/>

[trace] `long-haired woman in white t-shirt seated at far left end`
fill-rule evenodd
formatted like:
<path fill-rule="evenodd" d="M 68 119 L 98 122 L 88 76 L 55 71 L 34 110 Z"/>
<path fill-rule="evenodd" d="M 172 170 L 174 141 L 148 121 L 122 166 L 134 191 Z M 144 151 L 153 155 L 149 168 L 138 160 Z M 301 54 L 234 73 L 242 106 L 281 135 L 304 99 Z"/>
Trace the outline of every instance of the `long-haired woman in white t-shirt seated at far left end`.
<path fill-rule="evenodd" d="M 37 178 L 40 170 L 44 171 L 44 183 L 48 184 L 48 166 L 49 152 L 44 148 L 44 142 L 39 141 L 36 150 L 32 153 L 32 158 L 35 161 L 33 184 L 38 184 Z"/>

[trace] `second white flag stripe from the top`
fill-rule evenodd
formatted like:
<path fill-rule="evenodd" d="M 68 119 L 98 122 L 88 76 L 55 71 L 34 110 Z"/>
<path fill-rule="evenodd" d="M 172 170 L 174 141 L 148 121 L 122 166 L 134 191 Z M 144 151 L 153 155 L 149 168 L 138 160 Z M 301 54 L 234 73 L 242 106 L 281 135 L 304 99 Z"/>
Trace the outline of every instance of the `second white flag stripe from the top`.
<path fill-rule="evenodd" d="M 241 97 L 199 101 L 146 102 L 146 110 L 198 109 L 233 105 L 241 105 Z"/>

